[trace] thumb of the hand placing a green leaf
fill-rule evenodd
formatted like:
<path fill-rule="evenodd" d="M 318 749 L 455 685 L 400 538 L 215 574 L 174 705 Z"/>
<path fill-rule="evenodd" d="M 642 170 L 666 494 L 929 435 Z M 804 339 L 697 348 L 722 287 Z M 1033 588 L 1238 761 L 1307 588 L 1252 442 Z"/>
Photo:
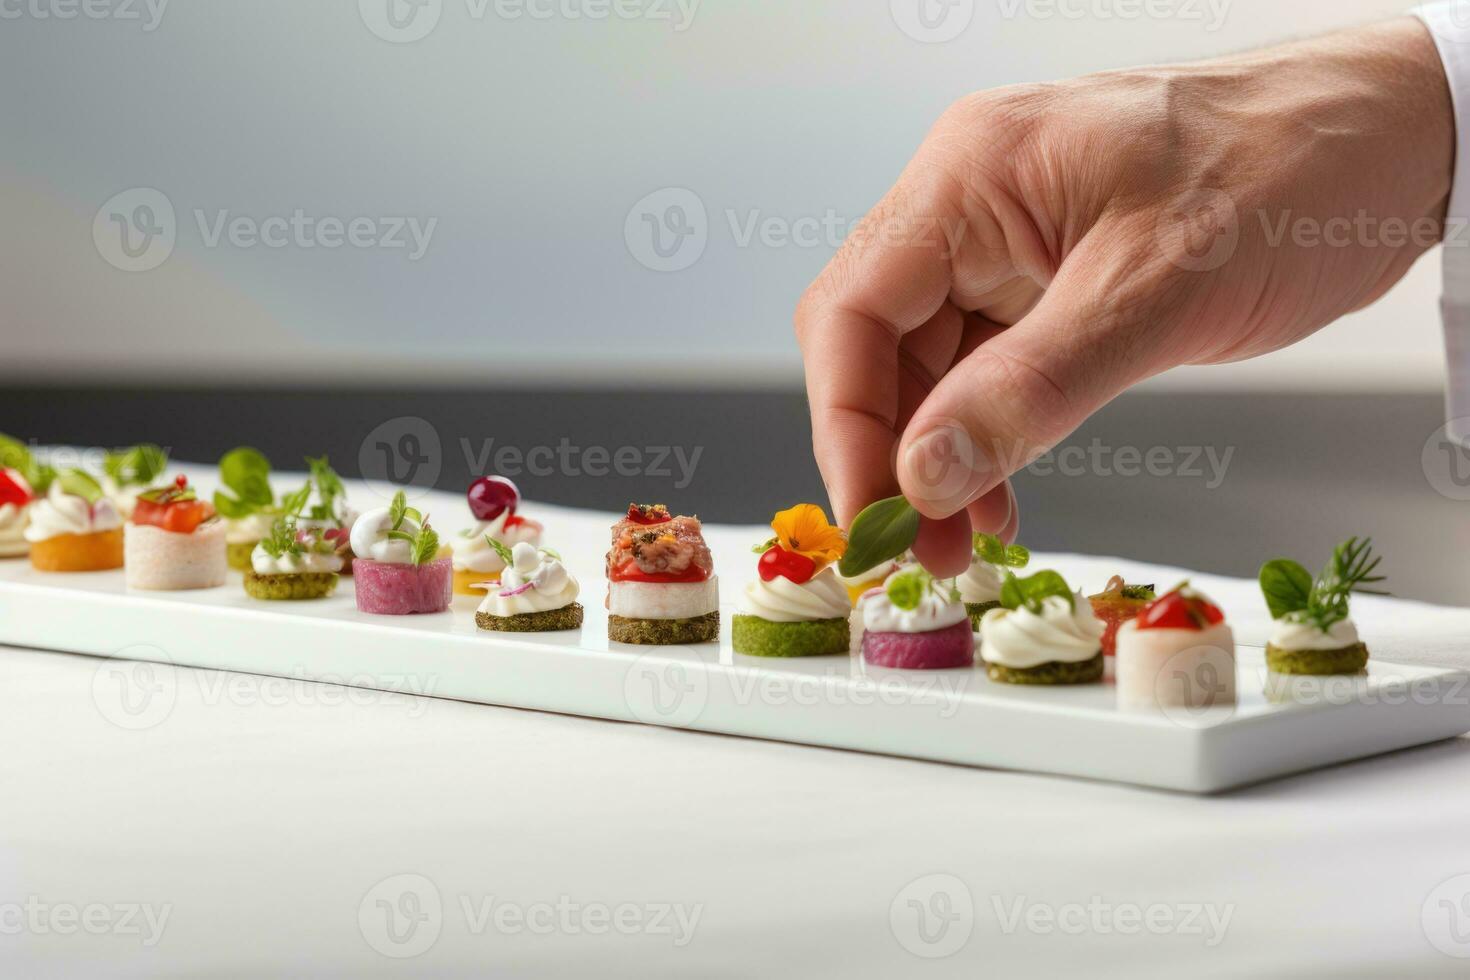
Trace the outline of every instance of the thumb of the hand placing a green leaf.
<path fill-rule="evenodd" d="M 1016 326 L 950 369 L 910 419 L 898 482 L 925 517 L 960 513 L 1157 373 L 1147 335 L 1161 297 L 1104 300 L 1107 291 L 1073 285 L 1076 264 Z"/>

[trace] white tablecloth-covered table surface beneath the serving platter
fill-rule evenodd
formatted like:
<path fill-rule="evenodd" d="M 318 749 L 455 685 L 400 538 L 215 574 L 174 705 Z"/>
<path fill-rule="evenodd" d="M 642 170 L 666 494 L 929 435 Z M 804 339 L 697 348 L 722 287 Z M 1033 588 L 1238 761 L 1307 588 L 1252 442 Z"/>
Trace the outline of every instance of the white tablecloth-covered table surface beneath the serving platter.
<path fill-rule="evenodd" d="M 1254 583 L 1194 579 L 1258 642 Z M 1470 611 L 1355 619 L 1470 666 Z M 119 724 L 109 666 L 0 646 L 0 976 L 1470 973 L 1467 739 L 1189 798 L 171 667 Z"/>

